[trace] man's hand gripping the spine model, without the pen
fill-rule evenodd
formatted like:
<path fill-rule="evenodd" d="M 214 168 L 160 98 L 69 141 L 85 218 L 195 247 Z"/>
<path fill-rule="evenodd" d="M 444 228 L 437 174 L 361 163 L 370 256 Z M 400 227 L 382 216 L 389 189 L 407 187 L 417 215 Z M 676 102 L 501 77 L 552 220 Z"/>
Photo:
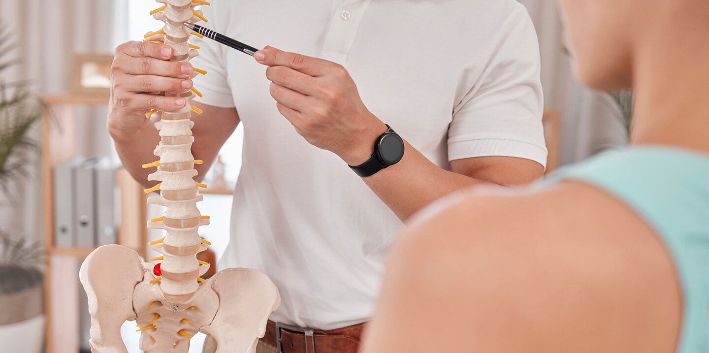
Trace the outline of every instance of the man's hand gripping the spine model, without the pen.
<path fill-rule="evenodd" d="M 111 65 L 111 101 L 108 111 L 108 133 L 116 138 L 135 135 L 145 126 L 145 114 L 152 109 L 177 111 L 186 101 L 165 97 L 163 91 L 186 92 L 192 88 L 192 65 L 171 62 L 169 45 L 150 42 L 128 42 L 116 48 Z"/>

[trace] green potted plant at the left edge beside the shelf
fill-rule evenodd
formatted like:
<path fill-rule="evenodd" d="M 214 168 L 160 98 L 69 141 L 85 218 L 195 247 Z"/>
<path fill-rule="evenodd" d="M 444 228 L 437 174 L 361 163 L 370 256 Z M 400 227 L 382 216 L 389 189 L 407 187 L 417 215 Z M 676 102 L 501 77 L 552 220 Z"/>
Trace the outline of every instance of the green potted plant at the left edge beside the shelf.
<path fill-rule="evenodd" d="M 16 182 L 28 178 L 28 164 L 37 153 L 29 137 L 40 120 L 43 106 L 30 94 L 28 82 L 5 82 L 3 72 L 14 61 L 7 35 L 0 33 L 0 212 L 9 212 L 18 197 Z M 44 337 L 43 248 L 21 230 L 0 225 L 0 347 L 3 352 L 39 353 Z"/>

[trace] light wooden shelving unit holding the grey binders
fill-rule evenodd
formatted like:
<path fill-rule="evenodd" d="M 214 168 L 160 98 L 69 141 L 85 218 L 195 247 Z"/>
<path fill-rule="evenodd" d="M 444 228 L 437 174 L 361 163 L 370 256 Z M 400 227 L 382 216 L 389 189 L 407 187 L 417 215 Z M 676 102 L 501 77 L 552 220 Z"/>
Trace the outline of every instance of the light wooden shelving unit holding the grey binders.
<path fill-rule="evenodd" d="M 79 351 L 79 261 L 94 248 L 55 247 L 54 245 L 54 183 L 57 164 L 77 155 L 74 127 L 75 106 L 108 104 L 108 96 L 65 94 L 43 98 L 46 113 L 42 119 L 42 185 L 45 244 L 45 315 L 47 353 Z M 116 183 L 120 193 L 121 223 L 118 243 L 145 254 L 145 195 L 143 188 L 125 169 L 118 169 Z M 61 308 L 60 310 L 57 310 Z"/>

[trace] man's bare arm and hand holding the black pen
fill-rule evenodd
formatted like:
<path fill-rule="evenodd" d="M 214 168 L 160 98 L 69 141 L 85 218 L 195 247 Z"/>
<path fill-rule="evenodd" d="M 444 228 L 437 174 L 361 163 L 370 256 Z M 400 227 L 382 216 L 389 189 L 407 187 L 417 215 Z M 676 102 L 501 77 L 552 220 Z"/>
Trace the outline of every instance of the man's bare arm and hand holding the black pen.
<path fill-rule="evenodd" d="M 259 50 L 255 59 L 268 66 L 270 94 L 303 138 L 352 166 L 372 157 L 374 142 L 389 128 L 364 106 L 345 67 L 272 47 Z M 453 191 L 484 182 L 523 184 L 544 171 L 531 159 L 488 156 L 452 161 L 448 172 L 404 143 L 400 162 L 364 178 L 402 220 Z"/>

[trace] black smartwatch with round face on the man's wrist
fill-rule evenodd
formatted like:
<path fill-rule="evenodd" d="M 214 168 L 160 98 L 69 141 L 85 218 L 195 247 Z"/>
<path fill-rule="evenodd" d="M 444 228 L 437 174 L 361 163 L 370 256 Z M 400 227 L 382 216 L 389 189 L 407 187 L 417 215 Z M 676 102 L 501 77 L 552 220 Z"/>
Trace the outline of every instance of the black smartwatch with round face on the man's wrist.
<path fill-rule="evenodd" d="M 357 167 L 350 165 L 350 169 L 359 177 L 372 177 L 376 172 L 398 163 L 403 158 L 403 140 L 401 136 L 395 133 L 391 126 L 386 125 L 386 127 L 389 130 L 381 134 L 374 142 L 372 158 Z"/>

